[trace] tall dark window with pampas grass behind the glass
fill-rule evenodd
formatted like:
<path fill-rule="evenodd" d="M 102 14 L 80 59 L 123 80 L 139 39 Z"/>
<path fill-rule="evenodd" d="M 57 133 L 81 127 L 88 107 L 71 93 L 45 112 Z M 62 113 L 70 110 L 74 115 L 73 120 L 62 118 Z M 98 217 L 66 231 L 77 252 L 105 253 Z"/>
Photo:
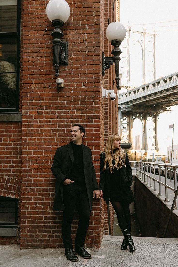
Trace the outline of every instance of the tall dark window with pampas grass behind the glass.
<path fill-rule="evenodd" d="M 0 1 L 0 112 L 19 111 L 21 0 Z"/>

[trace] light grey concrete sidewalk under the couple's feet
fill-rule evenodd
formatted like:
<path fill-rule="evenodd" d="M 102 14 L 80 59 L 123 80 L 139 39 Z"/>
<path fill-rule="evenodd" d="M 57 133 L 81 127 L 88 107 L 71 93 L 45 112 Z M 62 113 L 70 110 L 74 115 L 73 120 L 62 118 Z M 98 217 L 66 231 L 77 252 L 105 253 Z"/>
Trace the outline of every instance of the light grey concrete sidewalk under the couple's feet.
<path fill-rule="evenodd" d="M 123 237 L 104 235 L 100 249 L 87 249 L 90 260 L 69 262 L 64 249 L 23 249 L 0 246 L 1 267 L 177 267 L 178 239 L 134 237 L 136 251 L 120 249 Z"/>

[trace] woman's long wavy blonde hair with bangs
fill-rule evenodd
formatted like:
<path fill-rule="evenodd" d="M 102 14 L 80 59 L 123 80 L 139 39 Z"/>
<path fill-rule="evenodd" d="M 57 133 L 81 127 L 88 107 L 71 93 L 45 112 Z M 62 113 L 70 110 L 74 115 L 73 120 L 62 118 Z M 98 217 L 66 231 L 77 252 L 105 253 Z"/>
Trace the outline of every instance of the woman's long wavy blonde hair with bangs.
<path fill-rule="evenodd" d="M 115 140 L 121 140 L 120 135 L 117 133 L 112 133 L 111 135 L 108 136 L 108 140 L 106 142 L 106 149 L 105 149 L 105 160 L 104 160 L 104 168 L 103 171 L 106 170 L 107 164 L 108 164 L 108 169 L 111 173 L 112 169 L 120 169 L 122 165 L 125 165 L 125 151 L 120 147 L 116 150 L 115 153 L 113 153 L 114 150 L 114 141 Z M 115 164 L 113 166 L 113 159 L 115 160 Z"/>

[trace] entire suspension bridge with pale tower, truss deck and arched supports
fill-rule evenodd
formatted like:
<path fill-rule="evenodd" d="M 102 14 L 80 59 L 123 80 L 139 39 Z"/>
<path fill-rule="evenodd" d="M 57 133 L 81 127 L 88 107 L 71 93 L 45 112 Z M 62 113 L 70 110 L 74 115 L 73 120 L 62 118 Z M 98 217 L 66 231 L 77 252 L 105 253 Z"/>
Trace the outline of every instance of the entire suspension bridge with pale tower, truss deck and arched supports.
<path fill-rule="evenodd" d="M 148 150 L 147 122 L 152 121 L 152 134 L 149 138 L 152 149 L 159 151 L 157 120 L 160 113 L 168 112 L 171 106 L 178 104 L 178 72 L 155 80 L 155 35 L 128 28 L 126 38 L 122 42 L 125 59 L 120 71 L 122 78 L 124 76 L 127 82 L 130 81 L 130 46 L 139 44 L 143 62 L 143 85 L 137 88 L 129 87 L 127 82 L 121 85 L 121 88 L 127 90 L 122 93 L 118 91 L 118 132 L 123 143 L 133 144 L 133 122 L 137 118 L 140 119 L 143 124 L 141 150 Z M 146 80 L 150 82 L 146 83 Z"/>

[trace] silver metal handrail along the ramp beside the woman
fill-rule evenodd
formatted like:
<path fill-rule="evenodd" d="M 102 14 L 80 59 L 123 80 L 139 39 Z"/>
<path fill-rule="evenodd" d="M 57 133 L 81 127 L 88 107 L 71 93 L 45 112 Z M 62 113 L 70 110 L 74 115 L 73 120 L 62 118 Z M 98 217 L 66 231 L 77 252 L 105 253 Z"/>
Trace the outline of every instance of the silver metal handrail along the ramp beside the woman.
<path fill-rule="evenodd" d="M 141 161 L 130 161 L 130 163 L 134 163 L 136 165 L 136 171 L 137 171 L 137 177 L 141 179 L 144 183 L 146 183 L 149 188 L 153 187 L 153 191 L 156 190 L 156 183 L 159 183 L 159 193 L 158 195 L 161 196 L 161 185 L 165 187 L 165 202 L 169 201 L 168 199 L 168 189 L 171 189 L 174 194 L 176 194 L 177 189 L 177 176 L 176 170 L 178 170 L 178 165 L 171 165 L 171 164 L 160 164 L 160 163 L 154 163 L 154 162 L 141 162 Z M 149 171 L 148 171 L 149 166 Z M 151 166 L 153 166 L 153 175 L 151 173 Z M 158 166 L 158 179 L 155 177 L 155 166 Z M 165 173 L 165 182 L 161 181 L 161 166 L 164 166 L 164 173 Z M 168 168 L 173 169 L 174 172 L 174 187 L 171 187 L 167 184 L 167 171 Z M 153 186 L 152 186 L 152 180 L 153 180 Z M 172 182 L 171 180 L 171 173 L 170 173 L 170 179 L 169 182 Z M 175 201 L 174 209 L 178 209 L 177 206 L 177 198 Z"/>

